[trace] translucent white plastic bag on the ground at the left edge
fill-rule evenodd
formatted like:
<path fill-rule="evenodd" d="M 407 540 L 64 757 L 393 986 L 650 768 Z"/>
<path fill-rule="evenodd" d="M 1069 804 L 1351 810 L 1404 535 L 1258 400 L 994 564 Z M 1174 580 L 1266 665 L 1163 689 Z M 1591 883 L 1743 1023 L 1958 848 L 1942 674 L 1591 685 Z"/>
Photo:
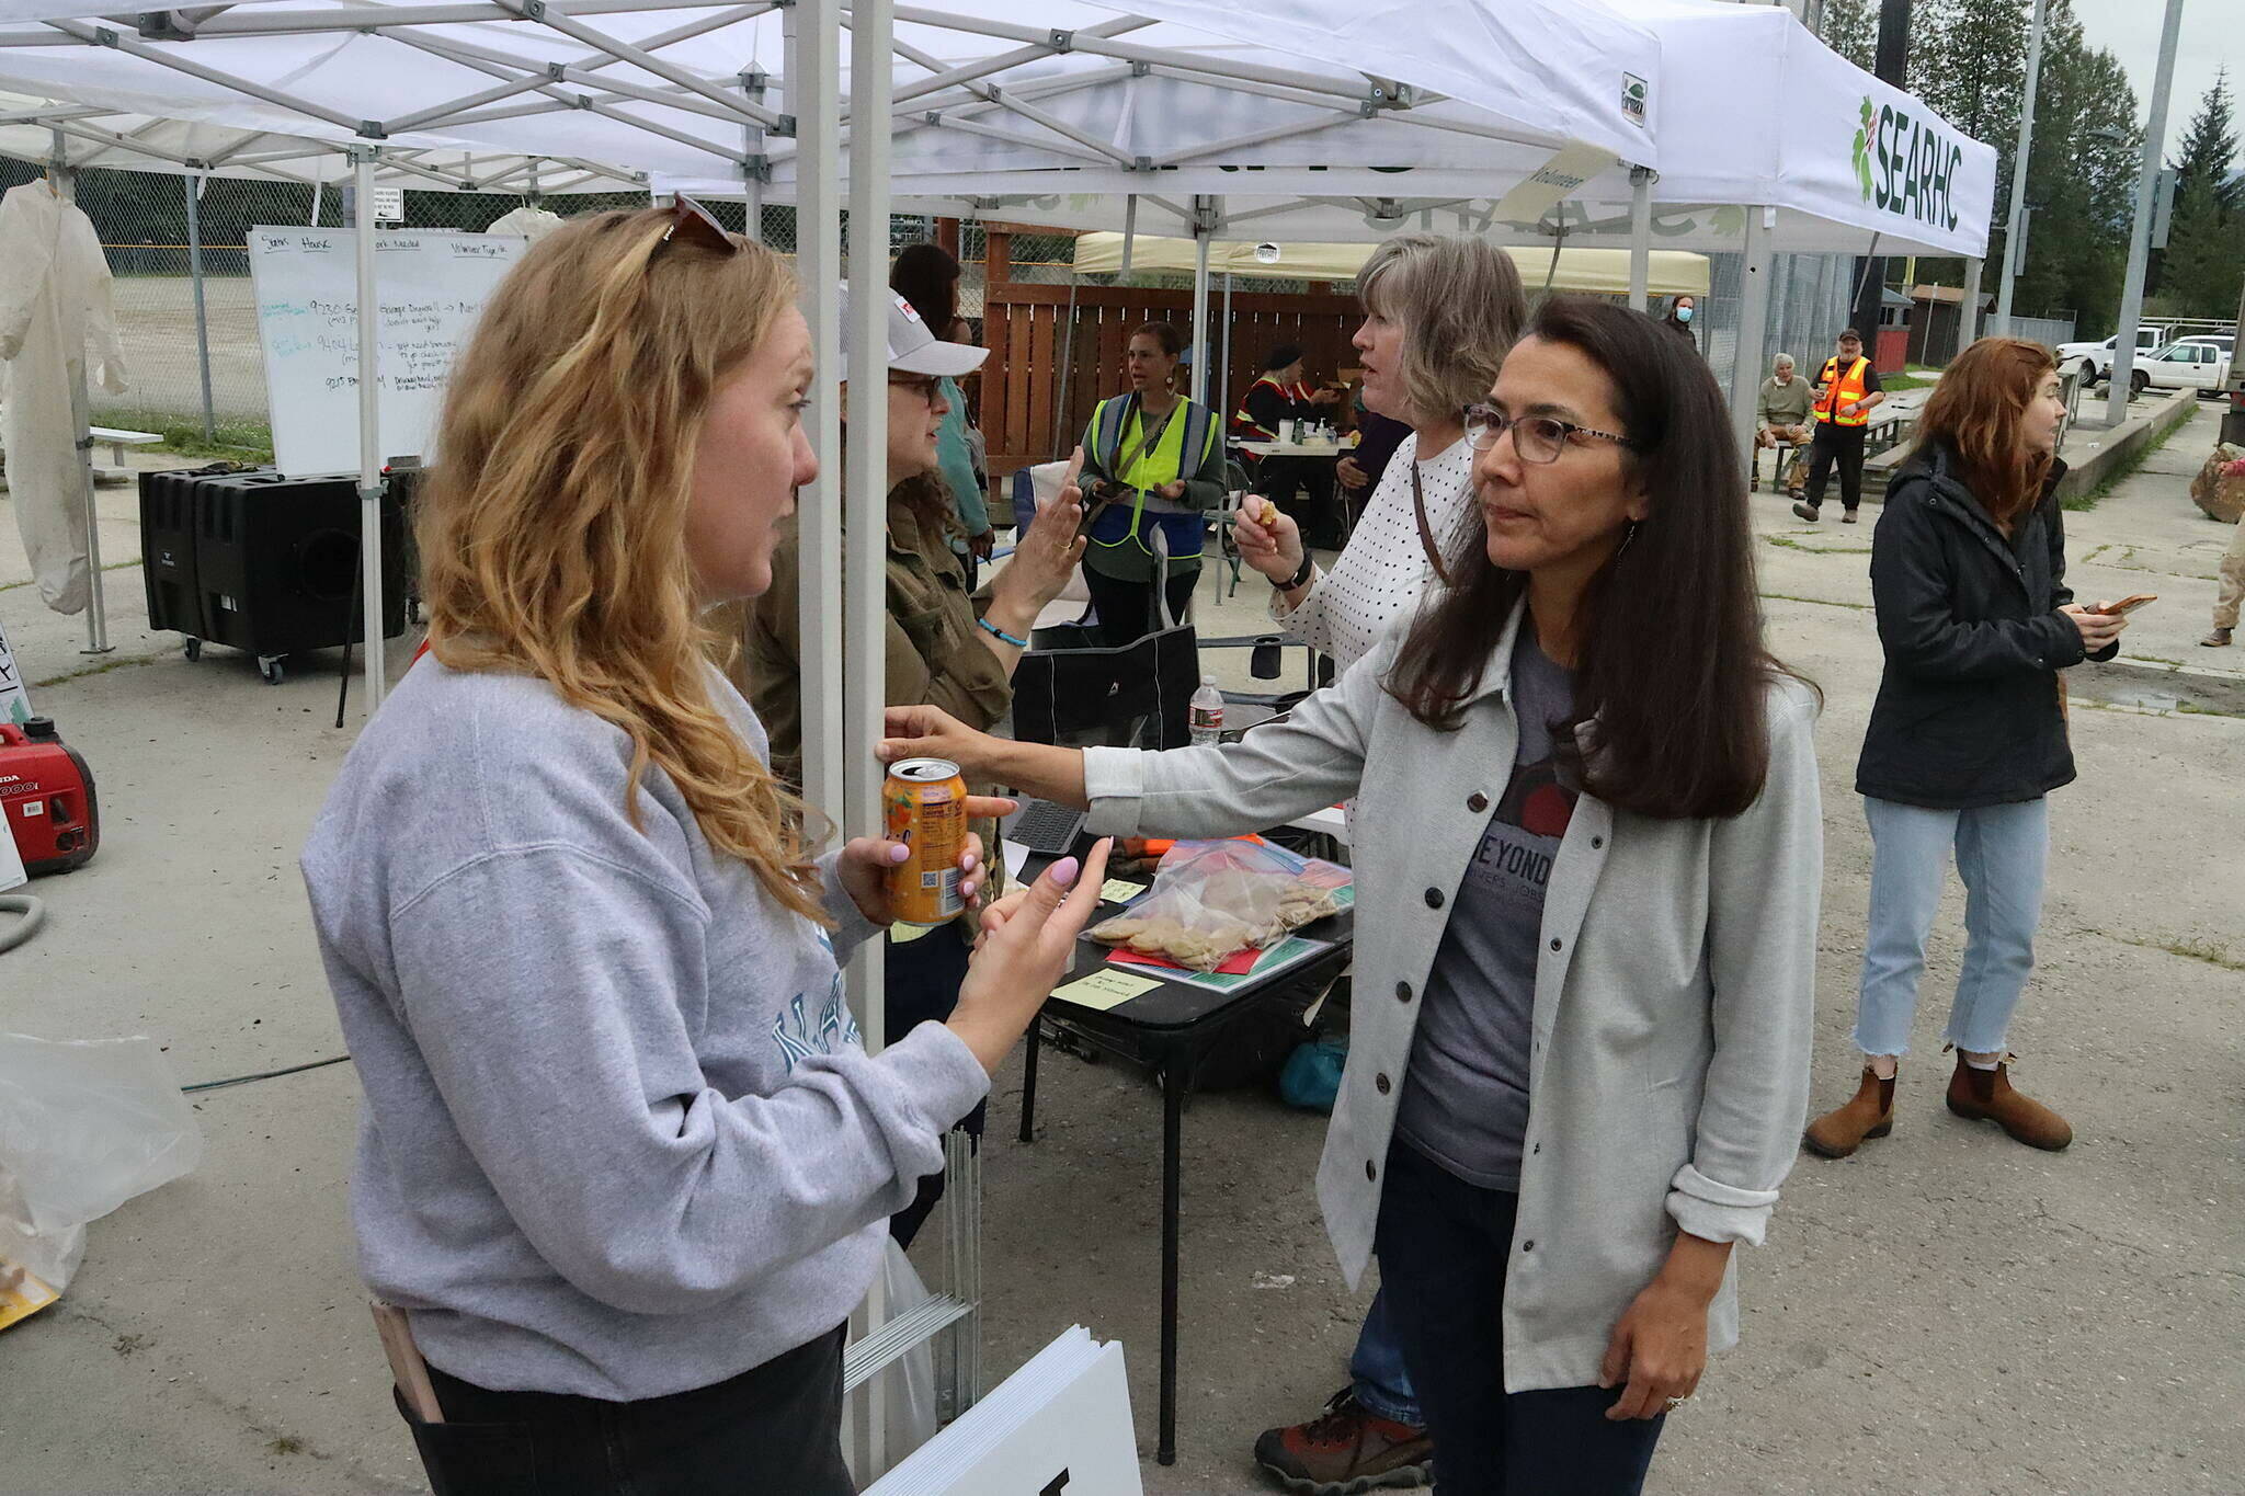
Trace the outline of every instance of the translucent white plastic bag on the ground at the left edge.
<path fill-rule="evenodd" d="M 0 1260 L 61 1292 L 85 1222 L 202 1162 L 202 1128 L 153 1038 L 0 1034 Z"/>

